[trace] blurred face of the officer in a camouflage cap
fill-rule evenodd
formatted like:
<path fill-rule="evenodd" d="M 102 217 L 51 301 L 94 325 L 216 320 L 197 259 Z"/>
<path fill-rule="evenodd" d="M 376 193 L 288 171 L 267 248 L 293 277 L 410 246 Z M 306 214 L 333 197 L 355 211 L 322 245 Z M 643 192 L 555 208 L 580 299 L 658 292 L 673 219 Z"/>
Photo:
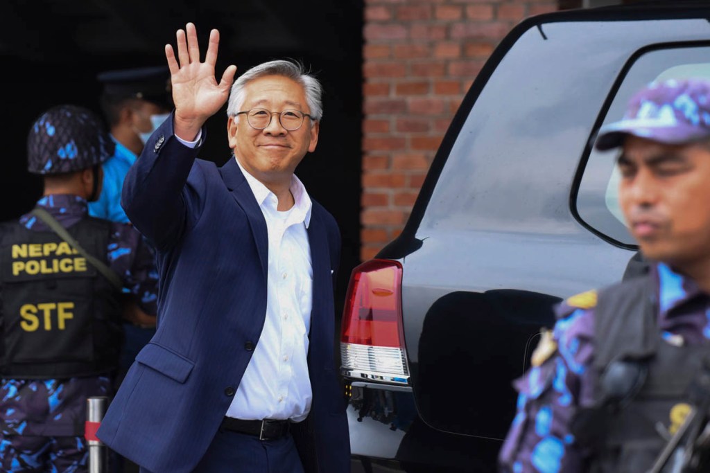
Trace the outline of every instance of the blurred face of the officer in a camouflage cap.
<path fill-rule="evenodd" d="M 619 201 L 643 254 L 710 268 L 710 148 L 629 136 L 618 165 Z"/>

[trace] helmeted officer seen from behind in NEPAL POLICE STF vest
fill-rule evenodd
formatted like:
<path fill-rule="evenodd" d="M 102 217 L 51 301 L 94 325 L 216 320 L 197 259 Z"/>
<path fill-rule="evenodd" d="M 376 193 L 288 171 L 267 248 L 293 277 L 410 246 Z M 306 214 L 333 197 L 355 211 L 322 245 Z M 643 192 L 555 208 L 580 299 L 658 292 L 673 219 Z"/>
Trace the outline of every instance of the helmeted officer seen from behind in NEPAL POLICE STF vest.
<path fill-rule="evenodd" d="M 87 215 L 114 151 L 99 117 L 50 108 L 27 147 L 44 193 L 0 224 L 0 470 L 86 472 L 87 398 L 114 394 L 122 304 L 154 314 L 157 280 L 137 230 Z"/>

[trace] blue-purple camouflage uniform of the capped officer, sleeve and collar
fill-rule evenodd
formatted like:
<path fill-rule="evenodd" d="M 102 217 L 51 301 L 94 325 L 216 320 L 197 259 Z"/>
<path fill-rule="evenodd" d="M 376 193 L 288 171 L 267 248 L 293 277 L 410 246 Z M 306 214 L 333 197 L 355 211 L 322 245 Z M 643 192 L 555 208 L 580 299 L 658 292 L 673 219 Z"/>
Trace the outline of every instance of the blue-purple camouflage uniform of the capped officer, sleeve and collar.
<path fill-rule="evenodd" d="M 662 263 L 652 265 L 648 277 L 660 301 L 662 338 L 684 345 L 710 340 L 710 295 Z M 579 408 L 594 403 L 594 306 L 596 291 L 560 304 L 552 341 L 538 345 L 540 359 L 533 355 L 533 367 L 515 381 L 518 408 L 499 455 L 501 471 L 584 471 L 590 452 L 579 447 L 570 426 Z"/>

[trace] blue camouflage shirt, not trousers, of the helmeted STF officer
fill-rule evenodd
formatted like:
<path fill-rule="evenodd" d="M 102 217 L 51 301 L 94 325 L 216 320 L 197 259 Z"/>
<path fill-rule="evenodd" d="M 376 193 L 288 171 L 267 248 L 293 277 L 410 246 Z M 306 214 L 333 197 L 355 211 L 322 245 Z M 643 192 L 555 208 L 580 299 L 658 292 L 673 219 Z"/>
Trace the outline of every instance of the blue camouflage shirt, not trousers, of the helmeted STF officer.
<path fill-rule="evenodd" d="M 55 194 L 37 203 L 65 228 L 87 215 L 87 201 L 80 196 Z M 20 218 L 30 230 L 48 227 L 31 214 Z M 106 249 L 108 265 L 124 282 L 124 293 L 133 294 L 146 313 L 154 314 L 158 300 L 158 273 L 153 254 L 138 230 L 114 223 Z M 1 316 L 1 314 L 0 314 Z M 2 379 L 0 382 L 0 429 L 3 435 L 83 435 L 86 399 L 111 396 L 107 377 L 70 379 Z M 4 444 L 0 444 L 0 456 Z"/>

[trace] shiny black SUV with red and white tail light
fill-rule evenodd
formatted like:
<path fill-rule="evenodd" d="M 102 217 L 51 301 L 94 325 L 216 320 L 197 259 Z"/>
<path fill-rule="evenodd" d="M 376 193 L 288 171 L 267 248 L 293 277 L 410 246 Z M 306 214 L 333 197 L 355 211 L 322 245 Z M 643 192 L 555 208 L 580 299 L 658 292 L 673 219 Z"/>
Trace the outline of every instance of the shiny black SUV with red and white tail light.
<path fill-rule="evenodd" d="M 698 75 L 710 77 L 708 1 L 559 11 L 510 31 L 403 233 L 351 274 L 341 371 L 364 471 L 495 470 L 511 381 L 554 304 L 633 269 L 597 130 L 646 83 Z"/>

